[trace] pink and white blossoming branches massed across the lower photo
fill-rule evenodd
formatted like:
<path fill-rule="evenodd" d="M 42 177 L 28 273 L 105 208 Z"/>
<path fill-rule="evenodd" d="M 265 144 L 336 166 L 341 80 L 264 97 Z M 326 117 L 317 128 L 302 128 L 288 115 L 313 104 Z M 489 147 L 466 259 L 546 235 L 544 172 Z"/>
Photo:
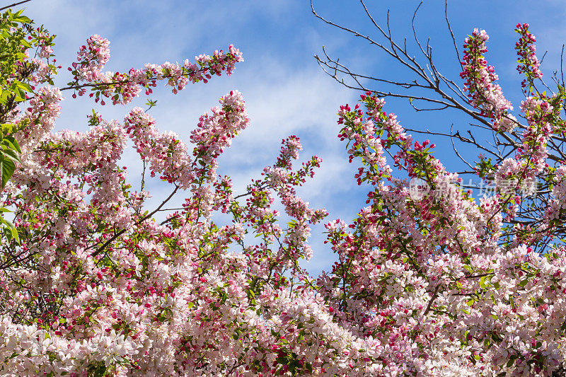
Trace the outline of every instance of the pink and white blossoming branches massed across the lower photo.
<path fill-rule="evenodd" d="M 6 152 L 14 168 L 2 181 L 1 205 L 14 211 L 0 246 L 2 375 L 563 372 L 566 250 L 541 243 L 560 238 L 565 213 L 566 168 L 545 161 L 548 141 L 563 131 L 566 94 L 562 86 L 553 96 L 531 91 L 539 72 L 526 25 L 518 26 L 518 51 L 531 91 L 521 105 L 528 127 L 511 115 L 485 64 L 483 31 L 466 40 L 462 77 L 470 106 L 497 132 L 518 128 L 523 138 L 514 158 L 478 173 L 548 185 L 540 227 L 512 222 L 520 197 L 499 192 L 475 202 L 458 190 L 458 176 L 433 157 L 434 144 L 413 141 L 369 92 L 339 112 L 339 137 L 362 164 L 355 178 L 369 189 L 368 205 L 352 224 L 326 224 L 337 259 L 313 279 L 301 261 L 312 254 L 309 226 L 327 214 L 308 207 L 296 187 L 320 159 L 296 167 L 301 144 L 291 136 L 239 195 L 216 173 L 217 158 L 248 126 L 241 93 L 224 95 L 200 117 L 192 145 L 159 131 L 141 108 L 125 110 L 123 121 L 93 113 L 87 132 L 52 131 L 63 93 L 113 105 L 151 93 L 158 81 L 177 93 L 231 74 L 243 60 L 235 47 L 195 62 L 105 73 L 110 43 L 93 35 L 69 67 L 71 82 L 56 88 L 52 77 L 62 67 L 47 30 L 21 13 L 3 17 L 12 21 L 2 37 L 17 35 L 18 48 L 1 82 L 2 95 L 10 90 L 0 108 L 4 136 L 17 152 Z M 128 139 L 149 174 L 171 187 L 154 209 L 144 205 L 149 192 L 126 184 L 119 162 Z M 432 190 L 410 195 L 390 163 Z M 183 195 L 183 209 L 156 221 L 174 195 Z M 219 225 L 217 214 L 231 223 Z"/>

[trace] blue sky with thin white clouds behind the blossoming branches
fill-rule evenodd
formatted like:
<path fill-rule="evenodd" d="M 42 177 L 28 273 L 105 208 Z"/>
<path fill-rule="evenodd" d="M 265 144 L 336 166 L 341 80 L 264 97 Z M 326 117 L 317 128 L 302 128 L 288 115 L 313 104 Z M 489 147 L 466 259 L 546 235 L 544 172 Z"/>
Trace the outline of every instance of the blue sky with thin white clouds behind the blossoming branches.
<path fill-rule="evenodd" d="M 2 1 L 9 4 L 11 1 Z M 376 35 L 358 1 L 315 1 L 320 14 L 344 23 L 363 33 Z M 393 35 L 402 40 L 411 37 L 410 18 L 418 1 L 366 1 L 378 21 L 383 22 L 391 8 Z M 348 90 L 326 76 L 313 59 L 324 45 L 340 62 L 357 71 L 388 79 L 407 78 L 407 72 L 385 59 L 383 54 L 318 21 L 311 15 L 307 0 L 181 1 L 122 0 L 72 1 L 34 0 L 25 4 L 26 14 L 57 35 L 58 62 L 68 66 L 76 51 L 91 34 L 111 42 L 108 70 L 127 71 L 146 62 L 182 62 L 195 54 L 238 47 L 246 62 L 233 75 L 215 78 L 207 85 L 189 86 L 179 95 L 157 91 L 158 100 L 151 114 L 158 127 L 170 129 L 187 141 L 200 114 L 216 105 L 221 95 L 237 89 L 246 98 L 251 125 L 221 158 L 221 173 L 231 175 L 236 187 L 245 187 L 257 178 L 261 168 L 277 156 L 281 139 L 296 134 L 304 144 L 304 159 L 313 154 L 323 158 L 316 178 L 301 189 L 301 196 L 313 207 L 325 207 L 328 219 L 350 221 L 364 203 L 364 190 L 357 187 L 355 168 L 346 160 L 345 144 L 337 140 L 336 112 L 343 103 L 354 103 L 359 93 Z M 474 27 L 490 34 L 488 61 L 495 65 L 504 93 L 514 102 L 521 100 L 515 72 L 514 42 L 517 22 L 528 22 L 537 36 L 539 57 L 545 50 L 543 71 L 546 78 L 560 63 L 560 48 L 566 41 L 564 1 L 461 1 L 449 0 L 449 17 L 458 47 Z M 424 1 L 417 20 L 417 32 L 430 36 L 437 66 L 458 80 L 458 63 L 447 39 L 444 24 L 444 1 Z M 59 85 L 70 81 L 61 71 Z M 460 81 L 458 81 L 460 82 Z M 98 107 L 103 117 L 122 120 L 134 105 Z M 451 113 L 415 114 L 405 102 L 388 102 L 387 110 L 396 112 L 400 122 L 412 128 L 448 130 L 450 124 L 466 129 L 466 119 Z M 63 103 L 58 129 L 86 129 L 86 114 L 93 104 L 88 100 Z M 424 139 L 418 137 L 418 139 Z M 446 141 L 437 142 L 437 156 L 452 169 L 461 168 Z M 475 156 L 477 151 L 466 151 Z M 133 155 L 132 155 L 133 156 Z M 127 160 L 127 157 L 125 158 Z M 130 178 L 136 181 L 139 164 L 129 166 Z M 134 186 L 135 187 L 135 186 Z M 159 182 L 150 187 L 153 202 L 168 195 Z M 180 202 L 181 197 L 179 197 Z M 317 273 L 328 269 L 333 256 L 323 245 L 322 227 L 313 229 L 314 257 L 308 269 Z"/>

